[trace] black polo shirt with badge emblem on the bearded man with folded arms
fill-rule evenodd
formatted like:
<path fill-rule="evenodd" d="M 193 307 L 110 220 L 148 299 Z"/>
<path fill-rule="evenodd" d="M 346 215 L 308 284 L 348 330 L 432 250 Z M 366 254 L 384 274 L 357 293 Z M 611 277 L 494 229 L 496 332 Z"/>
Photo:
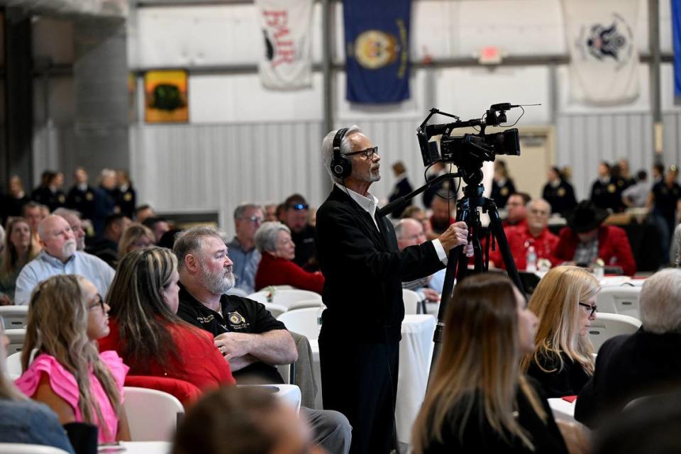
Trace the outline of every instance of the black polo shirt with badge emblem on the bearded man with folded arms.
<path fill-rule="evenodd" d="M 201 304 L 187 292 L 182 284 L 179 284 L 177 316 L 187 323 L 208 331 L 214 337 L 228 332 L 262 334 L 275 329 L 286 329 L 284 323 L 275 319 L 263 304 L 252 299 L 222 295 L 220 303 L 226 319 Z M 267 383 L 284 382 L 276 367 L 262 361 L 254 362 L 236 372 L 232 371 L 232 375 L 237 382 L 246 376 L 256 376 Z"/>

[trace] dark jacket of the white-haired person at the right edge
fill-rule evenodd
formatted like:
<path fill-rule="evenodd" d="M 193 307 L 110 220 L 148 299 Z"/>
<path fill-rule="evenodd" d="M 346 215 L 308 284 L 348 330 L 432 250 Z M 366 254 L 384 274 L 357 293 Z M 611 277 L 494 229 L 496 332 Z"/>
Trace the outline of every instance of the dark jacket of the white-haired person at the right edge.
<path fill-rule="evenodd" d="M 593 377 L 577 398 L 575 419 L 596 427 L 602 416 L 619 412 L 637 397 L 681 386 L 681 334 L 655 334 L 643 328 L 616 336 L 598 350 Z"/>

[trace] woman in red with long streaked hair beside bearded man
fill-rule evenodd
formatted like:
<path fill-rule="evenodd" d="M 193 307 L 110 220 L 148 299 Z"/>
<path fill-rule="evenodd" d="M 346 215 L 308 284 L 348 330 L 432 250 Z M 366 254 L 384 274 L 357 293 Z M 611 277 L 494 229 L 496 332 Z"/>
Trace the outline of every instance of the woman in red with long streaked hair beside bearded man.
<path fill-rule="evenodd" d="M 178 280 L 171 250 L 128 253 L 106 297 L 111 332 L 99 340 L 99 349 L 116 350 L 131 375 L 175 378 L 199 389 L 234 384 L 213 336 L 176 315 Z"/>

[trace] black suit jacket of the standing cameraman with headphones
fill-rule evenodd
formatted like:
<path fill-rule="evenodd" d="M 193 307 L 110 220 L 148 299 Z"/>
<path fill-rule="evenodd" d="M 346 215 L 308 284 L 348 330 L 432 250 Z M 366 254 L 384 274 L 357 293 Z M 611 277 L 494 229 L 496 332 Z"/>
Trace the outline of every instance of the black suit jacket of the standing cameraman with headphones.
<path fill-rule="evenodd" d="M 324 275 L 322 330 L 358 341 L 397 342 L 404 318 L 402 281 L 444 265 L 431 241 L 400 251 L 392 223 L 370 214 L 337 186 L 317 211 L 316 250 Z"/>

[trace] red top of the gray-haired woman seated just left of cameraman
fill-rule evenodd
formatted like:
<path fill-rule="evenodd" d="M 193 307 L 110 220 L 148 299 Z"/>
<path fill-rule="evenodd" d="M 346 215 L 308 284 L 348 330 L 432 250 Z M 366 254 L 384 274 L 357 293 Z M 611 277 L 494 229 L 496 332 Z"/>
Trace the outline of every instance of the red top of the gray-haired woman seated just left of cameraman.
<path fill-rule="evenodd" d="M 255 273 L 255 291 L 268 285 L 291 285 L 297 289 L 310 290 L 321 294 L 324 287 L 324 276 L 321 272 L 303 270 L 292 260 L 275 257 L 270 253 L 262 253 L 258 272 Z"/>

